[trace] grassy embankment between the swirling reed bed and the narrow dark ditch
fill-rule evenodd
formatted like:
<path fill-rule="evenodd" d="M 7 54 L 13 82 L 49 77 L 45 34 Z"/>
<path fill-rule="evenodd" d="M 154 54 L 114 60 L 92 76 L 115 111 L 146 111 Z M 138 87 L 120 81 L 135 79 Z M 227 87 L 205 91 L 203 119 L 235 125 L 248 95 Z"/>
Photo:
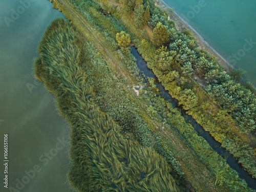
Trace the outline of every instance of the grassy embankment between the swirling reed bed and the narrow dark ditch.
<path fill-rule="evenodd" d="M 170 111 L 172 111 L 172 115 L 170 115 L 170 113 L 167 115 L 169 116 L 167 118 L 168 119 L 167 121 L 171 122 L 172 124 L 170 125 L 172 126 L 165 124 L 164 126 L 165 128 L 167 127 L 167 129 L 166 131 L 164 131 L 165 135 L 163 135 L 163 131 L 158 129 L 162 126 L 162 124 L 159 123 L 161 122 L 161 120 L 152 121 L 152 119 L 149 117 L 154 117 L 155 119 L 159 119 L 156 113 L 163 112 L 164 114 L 163 109 L 161 109 L 161 104 L 163 104 L 164 101 L 158 98 L 152 97 L 151 100 L 154 101 L 155 105 L 151 106 L 148 104 L 147 113 L 145 113 L 144 110 L 140 107 L 136 108 L 137 105 L 145 107 L 145 104 L 143 104 L 141 100 L 136 99 L 134 95 L 131 94 L 132 92 L 131 88 L 133 86 L 133 83 L 136 82 L 136 79 L 133 77 L 130 77 L 129 72 L 134 71 L 135 63 L 130 63 L 130 61 L 126 61 L 127 59 L 131 59 L 131 56 L 125 57 L 125 55 L 122 55 L 120 50 L 117 50 L 117 46 L 115 44 L 114 39 L 112 38 L 112 35 L 109 35 L 108 33 L 102 34 L 98 32 L 100 24 L 94 20 L 99 18 L 102 19 L 101 21 L 102 25 L 104 24 L 104 26 L 106 27 L 106 25 L 108 24 L 113 26 L 112 24 L 113 20 L 111 20 L 113 18 L 111 19 L 106 18 L 103 15 L 101 15 L 99 12 L 95 12 L 97 10 L 94 10 L 95 9 L 94 7 L 90 7 L 91 13 L 84 11 L 84 13 L 88 14 L 88 16 L 91 15 L 89 18 L 87 18 L 87 19 L 91 19 L 90 20 L 91 23 L 90 23 L 87 19 L 84 19 L 84 18 L 81 19 L 82 17 L 81 14 L 79 12 L 76 12 L 76 10 L 73 10 L 71 7 L 69 7 L 70 9 L 67 9 L 68 6 L 67 5 L 63 6 L 60 4 L 60 2 L 59 4 L 57 4 L 57 6 L 63 11 L 63 13 L 66 15 L 67 18 L 72 20 L 72 23 L 74 24 L 74 26 L 79 28 L 80 32 L 82 32 L 84 36 L 90 39 L 90 41 L 92 41 L 95 47 L 98 49 L 99 53 L 94 54 L 95 55 L 94 59 L 96 59 L 97 56 L 99 57 L 99 55 L 102 55 L 106 60 L 109 61 L 109 62 L 106 62 L 108 64 L 108 67 L 106 68 L 107 69 L 109 68 L 108 69 L 109 71 L 107 70 L 108 73 L 110 71 L 116 72 L 115 74 L 117 76 L 117 79 L 119 78 L 119 81 L 122 82 L 119 84 L 120 87 L 116 86 L 116 82 L 118 81 L 114 81 L 115 83 L 111 85 L 110 82 L 112 82 L 113 79 L 102 78 L 105 75 L 102 75 L 101 68 L 92 68 L 92 66 L 90 65 L 89 65 L 90 67 L 87 68 L 88 71 L 90 71 L 89 69 L 94 70 L 94 73 L 91 72 L 91 74 L 93 75 L 89 75 L 90 77 L 91 76 L 95 77 L 95 79 L 92 80 L 91 84 L 95 86 L 95 90 L 101 90 L 96 93 L 97 103 L 101 106 L 101 108 L 104 111 L 110 113 L 110 115 L 114 119 L 116 119 L 119 122 L 119 124 L 121 124 L 123 131 L 124 130 L 127 131 L 127 129 L 129 130 L 129 128 L 131 127 L 129 127 L 128 125 L 132 124 L 133 129 L 130 131 L 135 133 L 135 135 L 137 136 L 137 139 L 142 144 L 148 145 L 148 146 L 150 146 L 151 144 L 151 147 L 155 148 L 156 151 L 158 151 L 160 154 L 165 156 L 167 160 L 169 158 L 169 160 L 172 161 L 174 156 L 177 157 L 178 161 L 181 163 L 181 169 L 185 173 L 183 177 L 187 181 L 189 181 L 198 191 L 200 190 L 201 191 L 214 191 L 214 190 L 227 191 L 228 187 L 232 188 L 232 187 L 238 187 L 240 185 L 240 180 L 237 177 L 236 173 L 230 170 L 230 168 L 226 165 L 225 161 L 222 158 L 220 158 L 215 152 L 213 152 L 202 138 L 198 137 L 195 134 L 195 131 L 193 130 L 193 128 L 191 126 L 189 127 L 189 125 L 187 125 L 184 122 L 184 119 L 180 116 L 177 110 L 169 106 Z M 84 6 L 84 7 L 88 7 L 88 6 Z M 119 27 L 119 29 L 116 29 L 115 27 L 116 26 L 114 26 L 114 29 L 117 32 L 119 32 L 121 27 Z M 114 33 L 112 30 L 109 30 L 109 31 Z M 108 49 L 105 49 L 105 48 L 108 48 Z M 129 68 L 130 70 L 126 70 L 125 67 Z M 99 71 L 101 73 L 98 73 Z M 97 83 L 95 81 L 97 81 Z M 108 86 L 105 84 L 106 82 Z M 126 88 L 126 86 L 130 87 L 130 91 L 129 89 Z M 121 90 L 121 89 L 125 90 L 125 92 L 118 93 L 117 90 Z M 110 94 L 111 97 L 108 97 L 106 93 Z M 117 96 L 115 97 L 116 94 L 119 96 L 119 98 Z M 129 99 L 127 98 L 125 99 L 124 95 L 126 95 Z M 142 94 L 140 96 L 145 99 L 145 102 L 147 100 L 148 101 L 150 100 L 149 96 L 142 95 Z M 130 108 L 130 109 L 125 108 L 123 110 L 121 108 L 118 108 L 118 106 L 120 106 L 118 104 L 121 104 L 122 106 L 122 102 L 124 100 L 126 100 L 127 103 L 125 105 L 125 102 L 124 102 L 123 105 L 125 107 L 134 106 L 135 112 L 137 114 L 133 114 L 131 116 L 130 113 L 127 113 L 127 112 L 133 112 L 134 110 L 133 108 Z M 133 102 L 131 102 L 130 100 L 132 100 L 133 102 L 135 101 L 137 102 L 136 104 L 132 104 Z M 118 104 L 115 105 L 115 103 L 118 103 Z M 157 106 L 157 104 L 160 104 L 160 105 Z M 127 118 L 122 119 L 122 117 L 127 117 Z M 130 120 L 131 117 L 132 119 L 133 117 L 135 117 L 135 120 L 133 122 L 124 123 L 125 120 L 127 119 Z M 142 126 L 142 124 L 146 124 L 146 126 Z M 187 136 L 187 138 L 185 139 L 182 138 L 182 136 L 179 135 L 174 130 L 171 130 L 171 129 L 168 130 L 168 127 L 172 127 L 172 129 L 176 129 L 176 130 L 180 129 L 183 132 L 183 134 Z M 175 140 L 170 140 L 173 138 L 175 138 Z M 181 138 L 184 140 L 187 140 L 186 141 L 187 143 L 184 143 L 184 141 Z M 159 146 L 159 143 L 160 143 L 160 146 Z M 190 146 L 187 147 L 185 144 L 189 144 Z M 193 150 L 191 150 L 191 148 L 193 148 Z M 161 150 L 163 151 L 161 152 Z M 168 152 L 167 155 L 164 154 L 166 152 Z M 194 153 L 196 153 L 196 155 Z M 198 162 L 200 160 L 202 161 L 202 163 Z M 175 166 L 175 163 L 173 163 L 173 165 Z M 210 169 L 211 172 L 209 172 L 208 169 Z M 200 173 L 199 170 L 201 170 L 202 173 Z M 178 168 L 176 168 L 176 171 L 178 172 Z M 219 184 L 221 186 L 215 186 L 215 184 Z M 243 185 L 245 184 L 243 183 Z M 229 190 L 231 190 L 231 188 L 229 188 Z M 236 190 L 233 190 L 233 191 L 236 191 Z"/>

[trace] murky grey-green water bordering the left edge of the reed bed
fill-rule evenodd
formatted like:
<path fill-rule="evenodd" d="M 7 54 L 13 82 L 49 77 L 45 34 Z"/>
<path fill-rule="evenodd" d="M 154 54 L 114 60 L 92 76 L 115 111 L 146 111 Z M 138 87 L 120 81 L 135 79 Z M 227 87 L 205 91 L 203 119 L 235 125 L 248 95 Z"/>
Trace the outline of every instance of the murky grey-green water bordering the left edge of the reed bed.
<path fill-rule="evenodd" d="M 58 115 L 52 95 L 34 81 L 32 69 L 38 41 L 51 21 L 63 14 L 47 0 L 27 2 L 23 10 L 19 1 L 0 1 L 2 162 L 4 134 L 8 133 L 9 141 L 8 189 L 3 187 L 1 163 L 0 191 L 70 191 L 66 183 L 69 127 Z M 12 9 L 19 16 L 11 15 Z M 13 22 L 6 22 L 6 17 Z"/>

